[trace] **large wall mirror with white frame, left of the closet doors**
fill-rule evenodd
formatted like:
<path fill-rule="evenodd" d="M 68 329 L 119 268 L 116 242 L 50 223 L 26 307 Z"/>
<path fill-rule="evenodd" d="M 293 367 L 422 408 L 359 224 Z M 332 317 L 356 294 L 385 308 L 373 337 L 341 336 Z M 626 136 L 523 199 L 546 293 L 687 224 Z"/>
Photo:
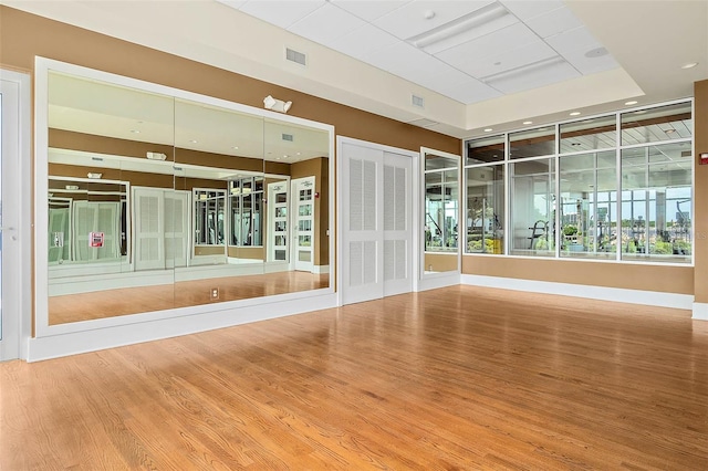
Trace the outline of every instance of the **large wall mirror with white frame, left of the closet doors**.
<path fill-rule="evenodd" d="M 331 126 L 49 62 L 48 326 L 332 286 Z"/>

